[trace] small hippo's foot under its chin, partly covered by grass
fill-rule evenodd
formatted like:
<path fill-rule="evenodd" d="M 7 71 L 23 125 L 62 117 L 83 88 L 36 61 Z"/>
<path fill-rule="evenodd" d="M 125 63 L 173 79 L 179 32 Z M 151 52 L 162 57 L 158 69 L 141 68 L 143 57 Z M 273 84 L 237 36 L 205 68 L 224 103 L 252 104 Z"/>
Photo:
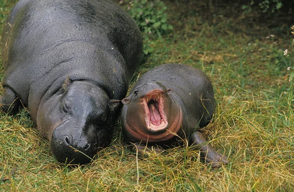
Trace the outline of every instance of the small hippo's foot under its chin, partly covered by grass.
<path fill-rule="evenodd" d="M 139 155 L 151 155 L 151 154 L 159 154 L 164 151 L 160 146 L 158 145 L 146 145 L 145 143 L 131 143 L 131 149 L 133 152 L 137 153 Z"/>

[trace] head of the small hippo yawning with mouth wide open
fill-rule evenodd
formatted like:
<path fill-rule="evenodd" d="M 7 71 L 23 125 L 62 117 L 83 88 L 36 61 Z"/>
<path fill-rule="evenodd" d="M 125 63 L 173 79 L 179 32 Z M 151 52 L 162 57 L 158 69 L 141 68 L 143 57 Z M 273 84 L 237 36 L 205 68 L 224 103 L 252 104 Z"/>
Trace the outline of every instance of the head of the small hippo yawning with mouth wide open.
<path fill-rule="evenodd" d="M 166 141 L 181 128 L 181 107 L 172 97 L 172 89 L 161 83 L 148 82 L 132 88 L 122 103 L 122 127 L 136 141 Z"/>

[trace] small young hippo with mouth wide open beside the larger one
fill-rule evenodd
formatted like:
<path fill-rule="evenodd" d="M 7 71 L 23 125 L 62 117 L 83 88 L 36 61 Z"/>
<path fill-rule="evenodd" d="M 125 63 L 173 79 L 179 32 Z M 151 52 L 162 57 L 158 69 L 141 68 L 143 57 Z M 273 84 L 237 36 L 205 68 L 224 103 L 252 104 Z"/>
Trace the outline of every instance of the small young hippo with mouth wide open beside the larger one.
<path fill-rule="evenodd" d="M 139 153 L 146 150 L 144 145 L 149 150 L 157 145 L 161 149 L 155 150 L 162 151 L 180 137 L 196 145 L 212 167 L 228 163 L 197 131 L 208 125 L 216 106 L 212 84 L 199 69 L 184 64 L 157 66 L 136 82 L 122 102 L 124 140 Z"/>

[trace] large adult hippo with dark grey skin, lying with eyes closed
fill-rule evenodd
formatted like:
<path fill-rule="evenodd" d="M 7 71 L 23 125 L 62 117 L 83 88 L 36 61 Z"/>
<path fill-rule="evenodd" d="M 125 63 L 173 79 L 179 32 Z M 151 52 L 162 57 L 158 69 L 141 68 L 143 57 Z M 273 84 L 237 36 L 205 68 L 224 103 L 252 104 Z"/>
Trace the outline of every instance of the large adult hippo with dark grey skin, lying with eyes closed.
<path fill-rule="evenodd" d="M 23 104 L 58 161 L 90 162 L 143 56 L 135 22 L 110 0 L 20 0 L 1 47 L 1 109 Z"/>

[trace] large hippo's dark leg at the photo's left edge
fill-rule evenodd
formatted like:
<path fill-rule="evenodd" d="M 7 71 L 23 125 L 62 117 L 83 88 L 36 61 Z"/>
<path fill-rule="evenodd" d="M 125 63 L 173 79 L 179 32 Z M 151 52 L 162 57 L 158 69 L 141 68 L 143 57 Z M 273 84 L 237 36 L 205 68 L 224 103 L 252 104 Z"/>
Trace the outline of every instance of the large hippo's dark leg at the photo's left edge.
<path fill-rule="evenodd" d="M 18 96 L 9 87 L 5 86 L 2 96 L 0 97 L 0 110 L 15 114 L 18 112 L 21 104 L 22 102 Z"/>

